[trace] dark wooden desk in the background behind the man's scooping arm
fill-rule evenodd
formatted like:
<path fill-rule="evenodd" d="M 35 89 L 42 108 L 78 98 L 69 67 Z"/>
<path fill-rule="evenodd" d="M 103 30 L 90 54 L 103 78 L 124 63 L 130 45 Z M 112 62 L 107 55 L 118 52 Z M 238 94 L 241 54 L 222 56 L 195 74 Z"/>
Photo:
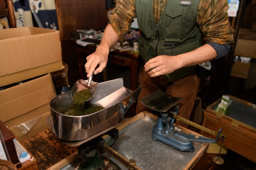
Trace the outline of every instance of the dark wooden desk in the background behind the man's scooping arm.
<path fill-rule="evenodd" d="M 76 55 L 78 57 L 78 67 L 80 79 L 85 77 L 84 64 L 86 62 L 86 57 L 96 50 L 95 44 L 88 44 L 85 47 L 76 44 Z M 130 89 L 132 91 L 136 90 L 138 87 L 138 75 L 139 66 L 141 63 L 140 53 L 132 52 L 120 52 L 119 50 L 114 50 L 109 53 L 108 61 L 116 65 L 121 65 L 123 67 L 130 67 Z"/>

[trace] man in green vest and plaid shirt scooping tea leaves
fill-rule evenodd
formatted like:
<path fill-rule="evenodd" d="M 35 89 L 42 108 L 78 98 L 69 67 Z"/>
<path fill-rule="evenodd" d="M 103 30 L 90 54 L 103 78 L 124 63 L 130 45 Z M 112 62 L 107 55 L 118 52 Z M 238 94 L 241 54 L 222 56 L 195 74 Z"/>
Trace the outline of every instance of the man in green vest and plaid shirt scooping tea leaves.
<path fill-rule="evenodd" d="M 227 10 L 227 0 L 120 0 L 109 15 L 100 45 L 86 58 L 87 77 L 97 65 L 95 74 L 106 67 L 109 50 L 118 40 L 124 41 L 137 18 L 144 71 L 136 113 L 148 110 L 140 99 L 160 89 L 184 98 L 178 103 L 179 114 L 189 119 L 200 82 L 196 65 L 225 56 L 233 41 Z"/>

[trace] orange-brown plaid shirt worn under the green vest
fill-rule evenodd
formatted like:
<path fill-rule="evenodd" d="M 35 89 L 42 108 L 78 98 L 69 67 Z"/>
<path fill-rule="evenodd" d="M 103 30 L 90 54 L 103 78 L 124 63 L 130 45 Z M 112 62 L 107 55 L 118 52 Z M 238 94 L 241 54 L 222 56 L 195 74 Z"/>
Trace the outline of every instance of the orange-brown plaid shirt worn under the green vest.
<path fill-rule="evenodd" d="M 168 0 L 153 0 L 154 20 L 157 24 Z M 233 42 L 234 29 L 228 21 L 228 0 L 200 0 L 197 20 L 206 42 L 229 44 Z M 130 26 L 136 18 L 135 1 L 120 0 L 120 5 L 114 8 L 108 16 L 110 24 L 123 42 Z"/>

